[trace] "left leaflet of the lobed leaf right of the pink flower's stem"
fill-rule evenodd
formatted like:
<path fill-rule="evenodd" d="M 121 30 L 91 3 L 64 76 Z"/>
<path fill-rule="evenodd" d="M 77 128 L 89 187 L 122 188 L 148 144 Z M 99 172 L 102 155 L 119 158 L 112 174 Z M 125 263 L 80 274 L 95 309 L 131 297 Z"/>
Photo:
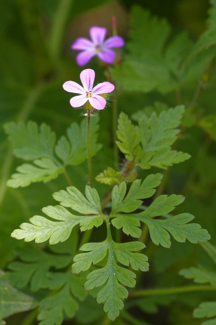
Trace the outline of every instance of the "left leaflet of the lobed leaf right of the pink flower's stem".
<path fill-rule="evenodd" d="M 119 115 L 117 137 L 119 141 L 116 141 L 116 144 L 121 152 L 126 154 L 128 160 L 133 160 L 134 155 L 141 150 L 140 138 L 131 120 L 123 112 Z"/>

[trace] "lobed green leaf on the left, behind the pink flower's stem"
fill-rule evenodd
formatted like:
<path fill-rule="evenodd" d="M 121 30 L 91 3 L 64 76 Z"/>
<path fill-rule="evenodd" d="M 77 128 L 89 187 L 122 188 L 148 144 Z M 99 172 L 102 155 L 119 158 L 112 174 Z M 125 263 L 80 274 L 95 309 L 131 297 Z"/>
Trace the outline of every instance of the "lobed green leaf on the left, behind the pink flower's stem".
<path fill-rule="evenodd" d="M 49 182 L 63 173 L 67 165 L 78 165 L 87 159 L 86 119 L 80 125 L 72 123 L 67 129 L 67 137 L 62 136 L 57 144 L 56 135 L 50 126 L 42 123 L 10 122 L 5 124 L 5 132 L 14 148 L 14 154 L 24 160 L 32 160 L 33 164 L 17 167 L 17 172 L 8 180 L 7 185 L 17 188 L 25 187 L 32 182 Z M 98 118 L 91 121 L 90 138 L 91 156 L 101 148 L 97 143 Z M 57 159 L 57 157 L 60 159 Z"/>

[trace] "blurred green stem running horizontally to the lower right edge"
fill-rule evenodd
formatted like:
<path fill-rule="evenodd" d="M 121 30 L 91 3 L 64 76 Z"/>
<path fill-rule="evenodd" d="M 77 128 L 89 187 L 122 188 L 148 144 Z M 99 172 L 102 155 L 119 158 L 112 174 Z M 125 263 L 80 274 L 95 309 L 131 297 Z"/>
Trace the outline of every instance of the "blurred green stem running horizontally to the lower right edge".
<path fill-rule="evenodd" d="M 216 287 L 210 285 L 191 285 L 173 288 L 161 288 L 161 289 L 147 289 L 139 290 L 135 292 L 129 292 L 128 297 L 144 297 L 144 296 L 155 296 L 160 294 L 173 294 L 173 293 L 183 293 L 183 292 L 193 292 L 193 291 L 216 291 Z"/>

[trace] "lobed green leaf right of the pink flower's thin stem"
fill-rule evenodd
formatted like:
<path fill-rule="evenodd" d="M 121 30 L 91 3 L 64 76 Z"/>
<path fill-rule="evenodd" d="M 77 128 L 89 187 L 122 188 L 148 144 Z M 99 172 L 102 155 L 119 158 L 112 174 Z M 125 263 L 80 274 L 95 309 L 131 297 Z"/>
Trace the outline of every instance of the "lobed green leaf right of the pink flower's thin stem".
<path fill-rule="evenodd" d="M 148 118 L 145 114 L 139 119 L 139 125 L 131 123 L 124 113 L 119 115 L 117 136 L 119 149 L 128 160 L 135 156 L 137 166 L 149 169 L 151 166 L 167 169 L 173 163 L 183 162 L 190 158 L 188 153 L 171 149 L 176 141 L 184 106 L 176 106 L 162 111 L 159 116 L 155 112 Z M 141 144 L 140 144 L 141 143 Z"/>

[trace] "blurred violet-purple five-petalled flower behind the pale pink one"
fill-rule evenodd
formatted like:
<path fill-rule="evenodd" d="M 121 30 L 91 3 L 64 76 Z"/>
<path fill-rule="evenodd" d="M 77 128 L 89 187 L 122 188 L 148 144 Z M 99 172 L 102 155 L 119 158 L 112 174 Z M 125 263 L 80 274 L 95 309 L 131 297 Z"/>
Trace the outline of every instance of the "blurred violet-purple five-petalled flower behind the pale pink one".
<path fill-rule="evenodd" d="M 107 29 L 105 27 L 93 26 L 89 29 L 91 41 L 85 37 L 79 37 L 71 45 L 73 50 L 81 50 L 76 56 L 76 63 L 79 66 L 87 64 L 95 55 L 106 63 L 113 63 L 116 52 L 111 49 L 124 46 L 121 36 L 111 36 L 105 41 Z"/>

